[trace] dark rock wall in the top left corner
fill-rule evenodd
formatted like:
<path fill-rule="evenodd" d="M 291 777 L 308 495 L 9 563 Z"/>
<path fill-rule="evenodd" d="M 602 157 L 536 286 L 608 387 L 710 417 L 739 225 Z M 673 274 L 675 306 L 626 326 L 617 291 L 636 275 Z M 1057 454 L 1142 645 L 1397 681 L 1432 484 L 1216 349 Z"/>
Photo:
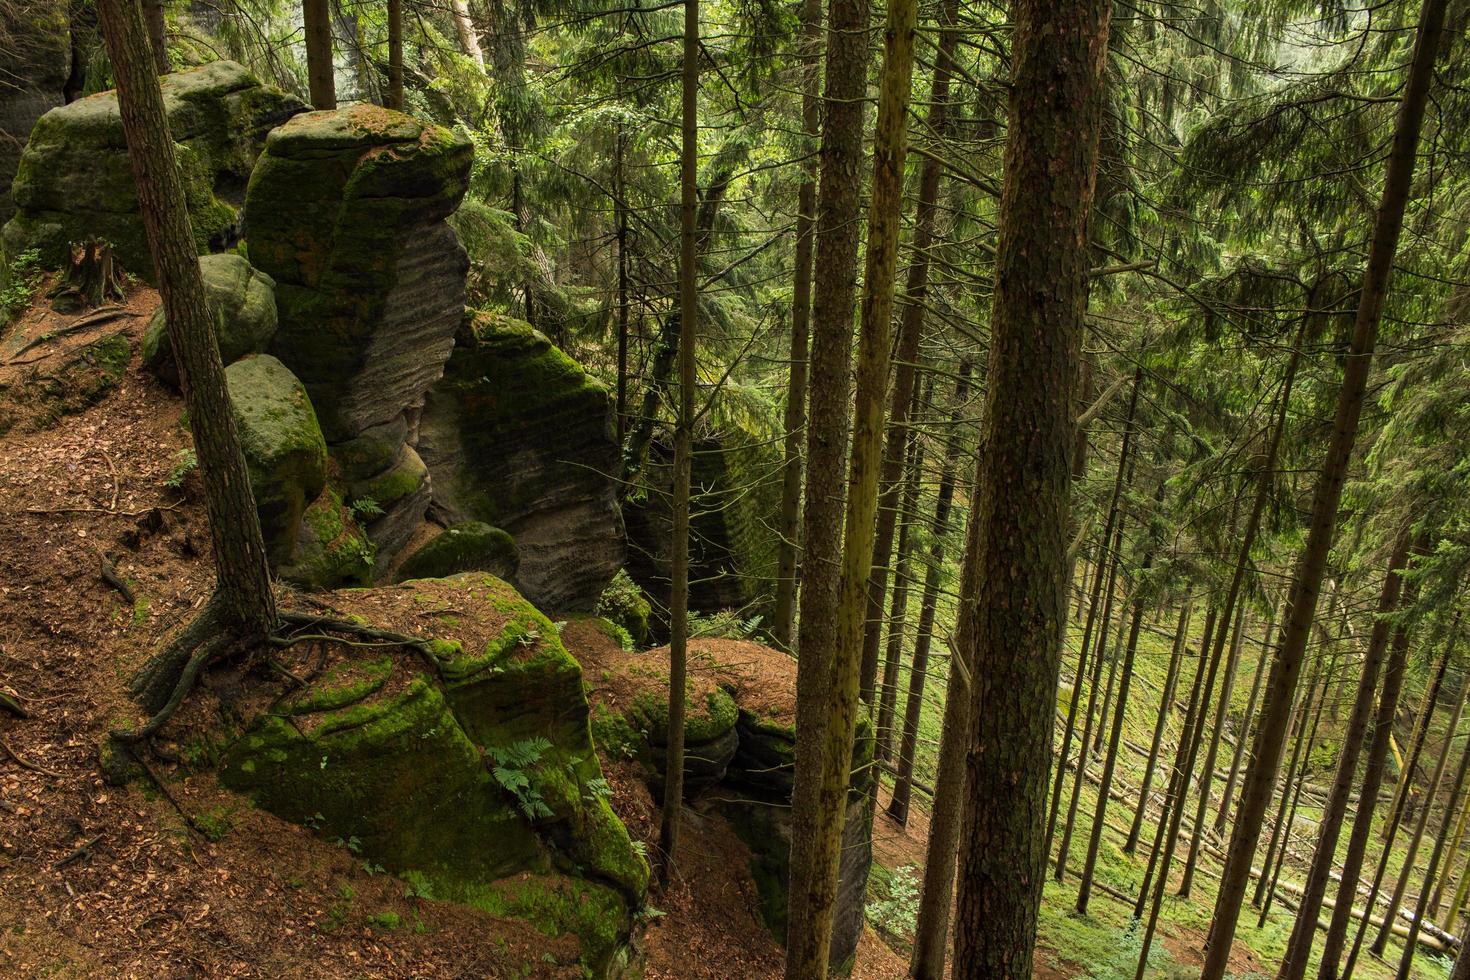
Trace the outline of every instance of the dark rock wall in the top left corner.
<path fill-rule="evenodd" d="M 72 75 L 71 18 L 65 3 L 0 7 L 0 223 L 10 220 L 10 182 L 31 126 L 66 101 Z"/>

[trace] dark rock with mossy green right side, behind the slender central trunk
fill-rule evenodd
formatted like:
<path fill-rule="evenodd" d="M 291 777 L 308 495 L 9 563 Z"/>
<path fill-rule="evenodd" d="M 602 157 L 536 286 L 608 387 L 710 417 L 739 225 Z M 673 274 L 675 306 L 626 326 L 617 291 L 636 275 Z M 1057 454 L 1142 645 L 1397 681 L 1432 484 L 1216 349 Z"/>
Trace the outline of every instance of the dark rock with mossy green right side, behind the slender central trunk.
<path fill-rule="evenodd" d="M 728 430 L 695 441 L 689 525 L 689 608 L 764 616 L 775 595 L 781 450 L 757 433 Z M 642 470 L 650 492 L 623 502 L 628 572 L 650 595 L 669 597 L 673 541 L 673 453 L 654 442 Z"/>

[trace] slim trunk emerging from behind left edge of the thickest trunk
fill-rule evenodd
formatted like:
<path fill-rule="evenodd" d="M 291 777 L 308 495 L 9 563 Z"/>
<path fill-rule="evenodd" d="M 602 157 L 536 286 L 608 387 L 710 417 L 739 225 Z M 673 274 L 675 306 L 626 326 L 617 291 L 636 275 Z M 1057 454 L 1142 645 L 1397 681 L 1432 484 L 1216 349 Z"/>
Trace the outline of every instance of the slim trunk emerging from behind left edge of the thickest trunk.
<path fill-rule="evenodd" d="M 933 813 L 925 851 L 923 890 L 914 921 L 914 946 L 908 959 L 913 980 L 942 980 L 950 943 L 950 907 L 954 904 L 954 852 L 964 817 L 964 749 L 970 733 L 970 667 L 960 660 L 975 638 L 975 605 L 980 592 L 979 563 L 975 561 L 979 522 L 972 498 L 966 527 L 964 564 L 960 570 L 960 617 L 950 645 L 950 679 L 945 685 L 944 730 L 939 735 L 939 767 L 933 780 Z"/>

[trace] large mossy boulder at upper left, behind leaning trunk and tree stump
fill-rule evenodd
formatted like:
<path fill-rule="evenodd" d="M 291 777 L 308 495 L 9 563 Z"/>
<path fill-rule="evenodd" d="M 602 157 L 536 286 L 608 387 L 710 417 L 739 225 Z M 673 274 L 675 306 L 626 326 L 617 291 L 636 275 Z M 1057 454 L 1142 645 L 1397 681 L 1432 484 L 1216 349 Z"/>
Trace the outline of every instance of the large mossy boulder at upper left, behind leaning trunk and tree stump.
<path fill-rule="evenodd" d="M 235 62 L 212 62 L 162 81 L 196 245 L 213 251 L 232 237 L 234 204 L 266 132 L 304 106 Z M 21 156 L 13 192 L 15 216 L 3 232 L 7 256 L 37 248 L 56 266 L 72 242 L 101 238 L 113 244 L 123 269 L 153 279 L 116 93 L 79 98 L 41 116 Z"/>

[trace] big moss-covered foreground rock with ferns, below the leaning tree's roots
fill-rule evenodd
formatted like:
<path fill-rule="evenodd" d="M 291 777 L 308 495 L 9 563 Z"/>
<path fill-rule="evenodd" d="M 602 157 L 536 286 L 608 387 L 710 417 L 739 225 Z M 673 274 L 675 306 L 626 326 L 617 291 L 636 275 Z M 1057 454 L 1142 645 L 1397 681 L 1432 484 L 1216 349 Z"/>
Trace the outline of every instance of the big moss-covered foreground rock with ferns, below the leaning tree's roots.
<path fill-rule="evenodd" d="M 582 673 L 556 626 L 484 573 L 343 592 L 432 657 L 344 648 L 225 749 L 220 780 L 415 890 L 575 934 L 639 976 L 648 865 L 607 805 Z"/>

